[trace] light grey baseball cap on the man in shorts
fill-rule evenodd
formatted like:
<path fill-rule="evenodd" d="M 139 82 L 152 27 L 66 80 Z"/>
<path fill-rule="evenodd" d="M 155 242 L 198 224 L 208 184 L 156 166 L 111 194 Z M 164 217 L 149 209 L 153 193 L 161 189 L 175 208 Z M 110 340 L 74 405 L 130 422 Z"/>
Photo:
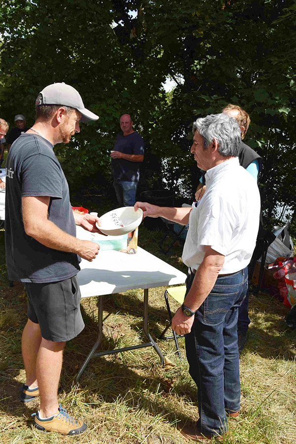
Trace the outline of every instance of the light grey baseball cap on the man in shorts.
<path fill-rule="evenodd" d="M 65 107 L 74 108 L 81 112 L 81 122 L 89 122 L 99 118 L 98 115 L 84 107 L 78 91 L 64 82 L 53 83 L 42 89 L 36 99 L 36 105 L 64 105 Z"/>

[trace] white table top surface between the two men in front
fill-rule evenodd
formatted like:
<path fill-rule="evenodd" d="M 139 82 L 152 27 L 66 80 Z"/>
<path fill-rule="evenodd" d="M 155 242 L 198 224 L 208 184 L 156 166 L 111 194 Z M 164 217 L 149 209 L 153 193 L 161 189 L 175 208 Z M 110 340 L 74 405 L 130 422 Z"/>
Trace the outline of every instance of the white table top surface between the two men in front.
<path fill-rule="evenodd" d="M 136 288 L 149 289 L 184 284 L 186 275 L 138 247 L 135 255 L 115 250 L 82 259 L 77 274 L 81 297 L 110 295 Z"/>

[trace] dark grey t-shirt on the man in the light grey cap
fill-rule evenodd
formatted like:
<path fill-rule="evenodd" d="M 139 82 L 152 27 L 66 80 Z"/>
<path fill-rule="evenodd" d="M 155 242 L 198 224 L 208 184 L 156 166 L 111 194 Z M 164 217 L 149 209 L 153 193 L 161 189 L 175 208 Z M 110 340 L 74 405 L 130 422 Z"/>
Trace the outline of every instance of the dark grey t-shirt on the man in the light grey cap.
<path fill-rule="evenodd" d="M 48 196 L 48 220 L 76 235 L 69 187 L 53 145 L 22 134 L 6 160 L 5 249 L 8 277 L 22 282 L 57 282 L 80 270 L 76 254 L 54 250 L 28 236 L 22 218 L 23 196 Z"/>

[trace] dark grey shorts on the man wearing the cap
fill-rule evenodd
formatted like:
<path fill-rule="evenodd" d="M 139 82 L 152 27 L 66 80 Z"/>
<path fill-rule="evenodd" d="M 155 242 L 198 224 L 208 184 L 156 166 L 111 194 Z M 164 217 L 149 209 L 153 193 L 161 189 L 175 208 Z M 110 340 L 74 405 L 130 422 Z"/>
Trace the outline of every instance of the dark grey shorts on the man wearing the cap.
<path fill-rule="evenodd" d="M 28 318 L 39 324 L 44 339 L 69 341 L 84 329 L 77 276 L 46 284 L 24 282 L 24 285 L 28 294 Z"/>

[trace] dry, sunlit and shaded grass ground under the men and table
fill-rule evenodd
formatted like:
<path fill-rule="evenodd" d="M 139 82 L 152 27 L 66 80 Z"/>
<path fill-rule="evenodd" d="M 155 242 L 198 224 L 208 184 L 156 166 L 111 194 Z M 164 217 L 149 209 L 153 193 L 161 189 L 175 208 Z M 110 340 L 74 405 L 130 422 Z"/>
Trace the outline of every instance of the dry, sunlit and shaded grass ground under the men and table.
<path fill-rule="evenodd" d="M 89 210 L 109 210 L 111 202 L 101 196 L 74 196 L 73 204 Z M 182 246 L 172 255 L 159 254 L 161 231 L 139 229 L 139 245 L 185 271 L 180 259 Z M 0 230 L 0 443 L 3 444 L 173 444 L 185 443 L 175 424 L 198 417 L 196 387 L 186 360 L 176 357 L 173 341 L 158 345 L 174 366 L 161 367 L 152 348 L 93 359 L 74 387 L 74 377 L 96 337 L 96 298 L 82 301 L 85 329 L 67 343 L 60 402 L 74 416 L 83 418 L 88 429 L 81 437 L 40 434 L 32 428 L 31 414 L 38 408 L 18 401 L 24 381 L 21 333 L 26 322 L 24 287 L 8 287 L 4 259 L 4 230 Z M 149 292 L 149 327 L 157 338 L 167 322 L 164 288 Z M 142 330 L 143 291 L 132 290 L 104 300 L 103 347 L 128 346 L 144 339 Z M 177 308 L 172 302 L 172 308 Z M 248 342 L 240 358 L 242 411 L 229 421 L 225 444 L 295 444 L 296 442 L 296 332 L 284 318 L 287 307 L 261 293 L 250 296 L 251 325 Z M 179 339 L 185 358 L 184 339 Z"/>

